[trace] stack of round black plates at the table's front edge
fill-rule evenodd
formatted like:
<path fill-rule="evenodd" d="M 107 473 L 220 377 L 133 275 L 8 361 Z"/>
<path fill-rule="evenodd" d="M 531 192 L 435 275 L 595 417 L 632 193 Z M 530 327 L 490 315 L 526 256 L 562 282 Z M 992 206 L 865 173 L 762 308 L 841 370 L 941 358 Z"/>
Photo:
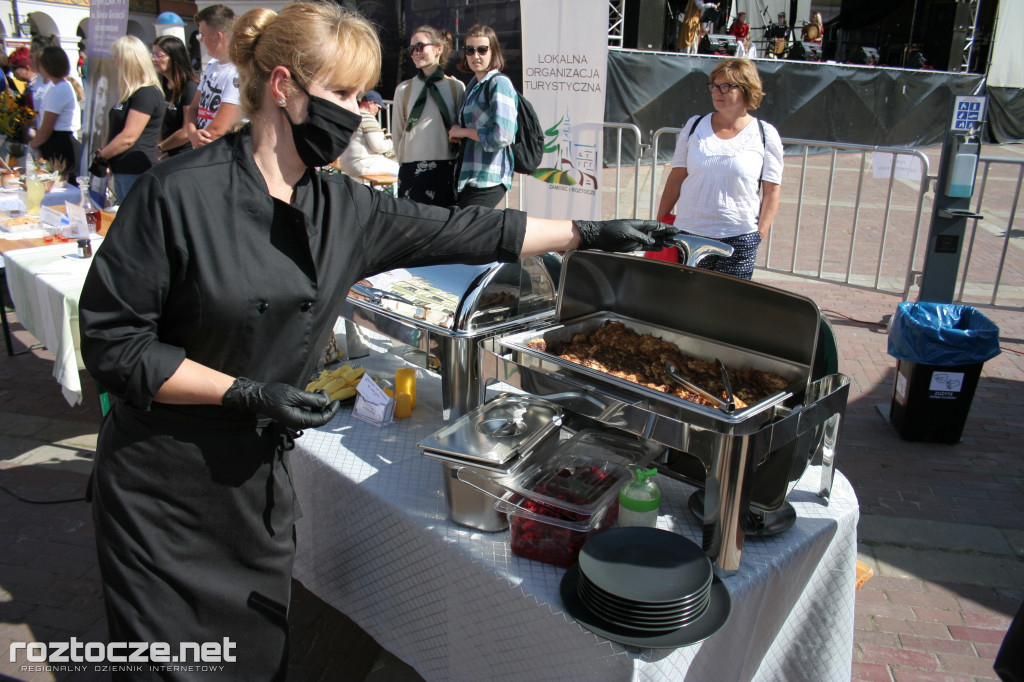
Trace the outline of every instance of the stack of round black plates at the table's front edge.
<path fill-rule="evenodd" d="M 562 602 L 584 627 L 613 642 L 675 648 L 714 635 L 732 610 L 700 547 L 656 528 L 594 536 L 566 571 Z"/>

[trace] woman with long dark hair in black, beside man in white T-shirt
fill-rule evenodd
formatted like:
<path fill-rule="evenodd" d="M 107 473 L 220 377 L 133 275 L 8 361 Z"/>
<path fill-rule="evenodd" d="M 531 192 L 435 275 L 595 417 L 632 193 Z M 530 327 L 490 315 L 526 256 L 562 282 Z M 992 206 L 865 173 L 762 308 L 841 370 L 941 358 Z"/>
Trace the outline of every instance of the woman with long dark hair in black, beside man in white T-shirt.
<path fill-rule="evenodd" d="M 167 95 L 167 113 L 157 154 L 173 157 L 191 148 L 184 127 L 185 106 L 196 97 L 199 77 L 191 68 L 188 49 L 175 36 L 161 36 L 153 42 L 153 66 Z"/>

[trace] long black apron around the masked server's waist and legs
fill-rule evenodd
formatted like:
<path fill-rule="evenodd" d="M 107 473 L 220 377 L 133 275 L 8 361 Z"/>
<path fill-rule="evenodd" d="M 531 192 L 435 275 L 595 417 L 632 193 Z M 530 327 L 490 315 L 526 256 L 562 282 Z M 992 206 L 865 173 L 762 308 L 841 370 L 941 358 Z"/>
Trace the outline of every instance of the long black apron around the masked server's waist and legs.
<path fill-rule="evenodd" d="M 167 642 L 172 656 L 180 642 L 216 642 L 224 655 L 151 663 L 114 679 L 285 678 L 291 441 L 275 425 L 232 417 L 118 401 L 103 421 L 92 494 L 111 641 Z"/>

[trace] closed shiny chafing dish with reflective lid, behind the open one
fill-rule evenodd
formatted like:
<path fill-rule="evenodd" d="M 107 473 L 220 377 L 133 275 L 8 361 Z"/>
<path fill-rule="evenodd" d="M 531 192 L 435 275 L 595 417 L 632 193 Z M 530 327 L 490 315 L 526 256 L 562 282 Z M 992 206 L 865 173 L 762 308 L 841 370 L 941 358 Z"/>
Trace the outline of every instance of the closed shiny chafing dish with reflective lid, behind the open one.
<path fill-rule="evenodd" d="M 560 258 L 545 254 L 391 270 L 353 287 L 343 314 L 419 351 L 441 376 L 443 418 L 455 419 L 479 404 L 477 343 L 549 321 L 559 268 Z"/>

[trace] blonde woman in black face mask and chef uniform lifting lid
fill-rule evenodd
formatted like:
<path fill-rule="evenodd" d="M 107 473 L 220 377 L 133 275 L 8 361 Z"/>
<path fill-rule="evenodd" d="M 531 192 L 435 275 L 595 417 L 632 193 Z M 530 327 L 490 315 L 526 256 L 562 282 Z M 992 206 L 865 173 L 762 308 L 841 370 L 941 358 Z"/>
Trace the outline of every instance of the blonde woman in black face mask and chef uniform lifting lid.
<path fill-rule="evenodd" d="M 339 410 L 295 386 L 350 286 L 395 267 L 653 249 L 674 230 L 424 206 L 316 172 L 380 71 L 374 29 L 337 5 L 254 9 L 230 56 L 251 123 L 140 177 L 82 292 L 86 367 L 120 398 L 93 516 L 112 642 L 219 643 L 211 678 L 280 679 L 298 509 L 287 451 Z M 202 677 L 189 663 L 150 675 Z"/>

